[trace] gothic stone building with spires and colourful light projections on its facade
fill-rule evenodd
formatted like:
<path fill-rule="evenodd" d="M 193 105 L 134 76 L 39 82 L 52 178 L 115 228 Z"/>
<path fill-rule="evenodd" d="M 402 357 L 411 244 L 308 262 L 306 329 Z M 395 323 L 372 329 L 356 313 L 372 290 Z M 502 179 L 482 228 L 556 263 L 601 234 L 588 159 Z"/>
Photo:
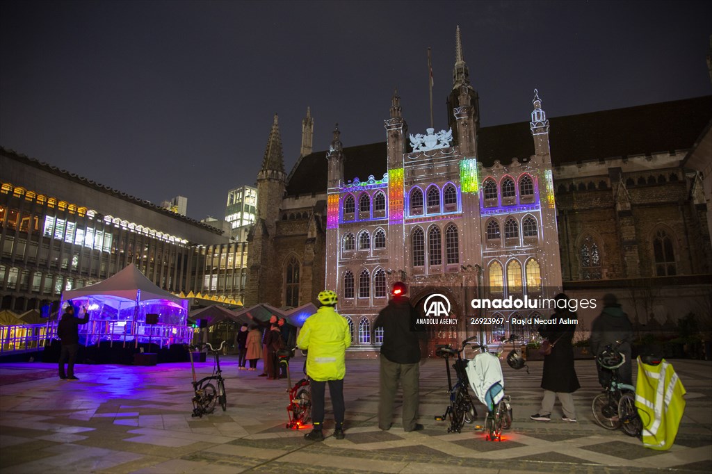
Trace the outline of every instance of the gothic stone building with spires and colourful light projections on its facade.
<path fill-rule="evenodd" d="M 480 127 L 458 31 L 447 105 L 449 132 L 413 137 L 394 95 L 386 142 L 343 147 L 336 128 L 325 152 L 311 152 L 308 112 L 289 176 L 275 117 L 258 175 L 246 304 L 297 306 L 333 288 L 355 344 L 369 349 L 395 280 L 411 285 L 415 302 L 446 295 L 461 316 L 436 328 L 434 342 L 531 329 L 468 325 L 464 316 L 537 314 L 475 312 L 473 297 L 614 291 L 639 322 L 704 314 L 671 298 L 709 292 L 701 176 L 683 163 L 691 154 L 712 159 L 709 141 L 696 144 L 712 96 L 548 120 L 535 91 L 528 122 Z"/>

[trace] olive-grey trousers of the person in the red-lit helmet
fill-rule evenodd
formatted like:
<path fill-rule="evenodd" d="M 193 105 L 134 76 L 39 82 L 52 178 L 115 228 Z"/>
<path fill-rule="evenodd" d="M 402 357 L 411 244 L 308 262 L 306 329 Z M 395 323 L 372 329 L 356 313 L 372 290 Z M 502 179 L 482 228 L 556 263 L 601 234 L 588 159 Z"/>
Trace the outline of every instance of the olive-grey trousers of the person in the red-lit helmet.
<path fill-rule="evenodd" d="M 378 427 L 390 428 L 398 382 L 403 389 L 403 430 L 413 431 L 418 421 L 420 402 L 420 364 L 397 364 L 381 356 L 381 392 L 378 401 Z"/>

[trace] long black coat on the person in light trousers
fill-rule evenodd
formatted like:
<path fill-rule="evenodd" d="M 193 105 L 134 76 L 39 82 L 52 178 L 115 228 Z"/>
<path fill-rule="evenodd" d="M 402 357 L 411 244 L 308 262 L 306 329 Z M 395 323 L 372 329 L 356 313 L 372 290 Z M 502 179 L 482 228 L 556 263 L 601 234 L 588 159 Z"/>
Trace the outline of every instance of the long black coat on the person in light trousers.
<path fill-rule="evenodd" d="M 557 310 L 551 319 L 577 319 L 576 313 L 569 310 Z M 539 328 L 539 334 L 552 344 L 551 354 L 544 357 L 544 374 L 541 388 L 570 394 L 581 388 L 574 368 L 574 349 L 571 341 L 576 332 L 576 325 L 555 324 Z M 557 340 L 558 339 L 558 340 Z"/>

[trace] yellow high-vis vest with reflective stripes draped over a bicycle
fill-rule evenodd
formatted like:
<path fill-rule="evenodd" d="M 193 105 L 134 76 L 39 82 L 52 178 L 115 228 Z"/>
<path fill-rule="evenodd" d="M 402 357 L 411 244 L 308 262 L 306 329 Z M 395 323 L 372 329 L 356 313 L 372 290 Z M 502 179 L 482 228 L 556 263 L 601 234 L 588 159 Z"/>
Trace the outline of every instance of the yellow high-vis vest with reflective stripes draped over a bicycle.
<path fill-rule="evenodd" d="M 685 411 L 685 387 L 671 364 L 644 364 L 638 357 L 635 406 L 643 422 L 643 446 L 664 451 L 675 442 Z"/>

